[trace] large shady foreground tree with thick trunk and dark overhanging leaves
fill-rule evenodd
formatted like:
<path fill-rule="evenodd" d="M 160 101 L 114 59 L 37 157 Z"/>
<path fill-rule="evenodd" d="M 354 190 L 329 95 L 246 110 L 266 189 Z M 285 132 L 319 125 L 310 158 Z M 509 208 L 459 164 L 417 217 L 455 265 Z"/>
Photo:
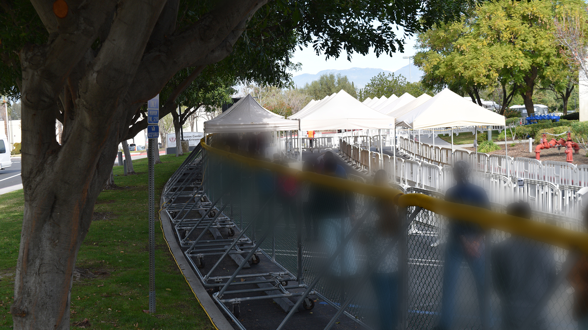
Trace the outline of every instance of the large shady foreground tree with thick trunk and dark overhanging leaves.
<path fill-rule="evenodd" d="M 279 82 L 289 79 L 296 46 L 312 44 L 335 58 L 342 50 L 389 54 L 403 49 L 397 25 L 416 33 L 459 18 L 470 2 L 2 2 L 0 92 L 22 100 L 25 204 L 14 329 L 69 328 L 76 255 L 118 143 L 146 126 L 144 103 L 176 73 L 227 60 L 246 79 Z"/>

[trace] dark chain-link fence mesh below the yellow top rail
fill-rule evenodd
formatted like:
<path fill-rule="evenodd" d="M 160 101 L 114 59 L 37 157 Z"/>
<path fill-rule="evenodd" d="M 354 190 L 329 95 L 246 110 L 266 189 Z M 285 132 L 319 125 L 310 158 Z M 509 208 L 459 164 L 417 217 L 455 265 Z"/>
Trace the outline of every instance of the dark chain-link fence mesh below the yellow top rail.
<path fill-rule="evenodd" d="M 400 208 L 392 201 L 205 153 L 206 198 L 226 204 L 223 215 L 238 233 L 251 224 L 245 235 L 253 244 L 265 237 L 262 253 L 302 284 L 290 292 L 302 292 L 316 280 L 312 298 L 335 311 L 345 307 L 356 326 L 577 326 L 574 287 L 588 281 L 588 274 L 582 274 L 577 258 L 566 262 L 567 250 L 491 229 L 461 235 L 454 220 L 426 209 Z M 502 206 L 494 209 L 505 212 Z M 520 221 L 554 220 L 535 216 Z M 573 228 L 580 230 L 577 224 Z M 228 229 L 220 230 L 224 234 Z M 574 276 L 580 280 L 570 282 Z"/>

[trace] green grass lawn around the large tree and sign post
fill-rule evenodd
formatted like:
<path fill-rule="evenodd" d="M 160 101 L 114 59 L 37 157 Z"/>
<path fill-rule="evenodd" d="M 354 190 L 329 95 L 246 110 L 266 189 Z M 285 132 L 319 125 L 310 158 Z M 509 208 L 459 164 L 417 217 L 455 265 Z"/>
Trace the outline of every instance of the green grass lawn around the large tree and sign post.
<path fill-rule="evenodd" d="M 163 184 L 184 157 L 161 156 L 155 166 L 156 203 Z M 103 191 L 94 221 L 79 250 L 71 292 L 72 329 L 214 329 L 194 297 L 156 223 L 155 314 L 148 307 L 147 159 L 134 160 L 136 176 L 122 176 L 114 167 L 115 183 L 123 190 Z M 12 326 L 14 273 L 22 225 L 22 190 L 0 195 L 0 329 Z M 86 320 L 87 319 L 87 320 Z M 86 320 L 86 321 L 85 321 Z"/>

